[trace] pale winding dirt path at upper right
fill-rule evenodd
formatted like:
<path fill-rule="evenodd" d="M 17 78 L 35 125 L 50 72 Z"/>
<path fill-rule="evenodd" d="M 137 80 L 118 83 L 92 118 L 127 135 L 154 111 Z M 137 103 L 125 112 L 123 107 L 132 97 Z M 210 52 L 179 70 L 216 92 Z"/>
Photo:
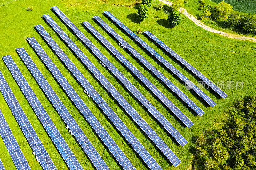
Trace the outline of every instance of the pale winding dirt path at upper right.
<path fill-rule="evenodd" d="M 170 2 L 168 0 L 159 0 L 159 1 L 163 2 L 166 5 L 172 6 L 172 2 Z M 246 36 L 236 35 L 236 34 L 232 34 L 232 33 L 226 33 L 226 32 L 223 32 L 223 31 L 219 31 L 219 30 L 215 30 L 213 28 L 210 28 L 209 26 L 206 26 L 201 21 L 196 19 L 192 14 L 190 14 L 184 8 L 180 8 L 179 11 L 180 12 L 183 11 L 182 13 L 184 15 L 186 15 L 191 21 L 193 21 L 196 25 L 200 26 L 201 28 L 203 28 L 207 31 L 210 31 L 212 33 L 217 33 L 217 34 L 220 34 L 220 35 L 228 37 L 228 38 L 235 38 L 235 39 L 239 39 L 239 40 L 250 40 L 250 41 L 256 42 L 256 38 L 254 38 L 254 37 L 246 37 Z"/>

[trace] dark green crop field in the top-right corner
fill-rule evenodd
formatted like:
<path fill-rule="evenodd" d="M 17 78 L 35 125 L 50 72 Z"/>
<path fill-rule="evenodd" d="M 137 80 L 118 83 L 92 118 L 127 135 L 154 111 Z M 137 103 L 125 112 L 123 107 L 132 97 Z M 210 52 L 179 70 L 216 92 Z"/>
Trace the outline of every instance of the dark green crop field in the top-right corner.
<path fill-rule="evenodd" d="M 220 3 L 222 0 L 212 0 L 213 2 Z M 245 13 L 256 12 L 255 0 L 225 0 L 226 3 L 233 6 L 233 9 Z"/>

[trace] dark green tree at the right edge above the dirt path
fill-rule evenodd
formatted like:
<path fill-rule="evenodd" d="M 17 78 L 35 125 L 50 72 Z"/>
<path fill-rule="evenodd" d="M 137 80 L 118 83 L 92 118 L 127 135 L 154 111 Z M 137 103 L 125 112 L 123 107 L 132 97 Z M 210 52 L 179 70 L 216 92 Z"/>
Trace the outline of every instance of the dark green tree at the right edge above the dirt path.
<path fill-rule="evenodd" d="M 241 27 L 249 33 L 256 33 L 256 15 L 248 14 L 241 16 Z"/>

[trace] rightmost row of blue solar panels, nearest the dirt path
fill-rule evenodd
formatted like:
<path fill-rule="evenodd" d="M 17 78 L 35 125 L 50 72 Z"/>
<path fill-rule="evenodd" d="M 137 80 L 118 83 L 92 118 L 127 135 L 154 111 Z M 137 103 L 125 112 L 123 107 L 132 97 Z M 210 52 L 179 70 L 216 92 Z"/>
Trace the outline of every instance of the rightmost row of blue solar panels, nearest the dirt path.
<path fill-rule="evenodd" d="M 182 63 L 185 67 L 187 67 L 190 71 L 192 71 L 198 78 L 200 78 L 203 82 L 209 85 L 215 92 L 217 92 L 222 98 L 226 98 L 228 95 L 223 92 L 217 85 L 215 85 L 211 80 L 206 78 L 200 71 L 196 70 L 191 64 L 189 64 L 186 60 L 184 60 L 180 55 L 175 53 L 171 48 L 165 45 L 162 41 L 160 41 L 155 35 L 150 33 L 149 31 L 144 31 L 153 41 L 155 41 L 158 45 L 164 48 L 169 54 L 171 54 L 174 58 L 176 58 L 180 63 Z"/>

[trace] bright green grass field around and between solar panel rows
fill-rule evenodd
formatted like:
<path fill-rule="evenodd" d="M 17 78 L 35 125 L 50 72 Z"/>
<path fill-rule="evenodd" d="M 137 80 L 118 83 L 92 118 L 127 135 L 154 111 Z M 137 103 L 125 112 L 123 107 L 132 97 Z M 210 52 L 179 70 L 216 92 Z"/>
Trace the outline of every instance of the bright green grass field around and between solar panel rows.
<path fill-rule="evenodd" d="M 109 2 L 112 3 L 112 2 Z M 125 4 L 127 1 L 120 0 L 120 3 Z M 133 3 L 130 1 L 130 3 Z M 26 8 L 31 6 L 33 11 L 26 11 Z M 120 82 L 113 77 L 112 74 L 102 67 L 99 60 L 94 56 L 84 44 L 79 41 L 76 36 L 68 30 L 68 28 L 57 18 L 57 16 L 51 11 L 51 6 L 58 6 L 68 18 L 100 49 L 100 51 L 128 78 L 132 84 L 134 84 L 140 92 L 146 96 L 146 98 L 172 123 L 172 125 L 188 140 L 188 144 L 184 147 L 177 145 L 173 138 L 166 133 L 162 126 L 153 118 L 144 107 L 126 90 Z M 237 99 L 242 99 L 248 95 L 255 95 L 255 79 L 256 79 L 256 61 L 255 57 L 251 55 L 244 55 L 241 53 L 234 53 L 228 50 L 221 50 L 204 46 L 201 43 L 202 40 L 215 44 L 221 47 L 233 48 L 236 50 L 242 50 L 245 52 L 255 53 L 255 43 L 249 41 L 238 41 L 234 39 L 228 39 L 210 32 L 207 32 L 200 27 L 196 26 L 189 19 L 183 16 L 182 26 L 169 28 L 167 24 L 168 15 L 163 11 L 156 10 L 151 7 L 149 18 L 138 23 L 136 20 L 136 6 L 128 8 L 125 6 L 117 6 L 108 4 L 103 1 L 80 1 L 80 0 L 51 0 L 51 1 L 14 1 L 10 4 L 0 7 L 0 56 L 11 55 L 18 67 L 20 68 L 23 75 L 28 80 L 29 85 L 32 87 L 37 97 L 41 99 L 44 108 L 52 118 L 52 121 L 59 129 L 61 135 L 66 140 L 67 144 L 75 154 L 76 158 L 83 166 L 84 169 L 94 169 L 92 163 L 88 157 L 81 150 L 75 139 L 68 133 L 65 128 L 65 124 L 52 107 L 50 102 L 47 100 L 44 93 L 41 91 L 36 81 L 22 62 L 20 57 L 15 51 L 15 48 L 24 47 L 28 54 L 31 56 L 33 61 L 38 66 L 39 70 L 43 73 L 45 78 L 49 81 L 50 85 L 63 101 L 64 105 L 68 108 L 69 112 L 75 118 L 76 122 L 83 129 L 86 136 L 92 142 L 96 150 L 100 153 L 104 161 L 107 163 L 110 169 L 116 170 L 121 169 L 111 153 L 106 150 L 106 147 L 100 141 L 99 137 L 94 133 L 92 128 L 86 122 L 84 117 L 79 113 L 74 104 L 69 100 L 68 96 L 63 92 L 60 85 L 54 80 L 53 76 L 40 61 L 39 57 L 35 54 L 33 49 L 26 42 L 26 37 L 35 37 L 40 45 L 44 48 L 46 53 L 50 56 L 53 62 L 58 66 L 60 71 L 65 75 L 70 84 L 74 87 L 77 93 L 82 97 L 85 104 L 91 109 L 93 114 L 97 117 L 100 123 L 108 131 L 110 136 L 116 141 L 121 150 L 125 153 L 128 159 L 131 160 L 132 164 L 136 169 L 144 170 L 147 169 L 145 164 L 138 157 L 136 152 L 133 151 L 132 147 L 124 140 L 121 134 L 116 131 L 113 124 L 110 123 L 108 118 L 101 112 L 100 108 L 95 105 L 93 100 L 87 97 L 81 86 L 69 73 L 66 67 L 61 63 L 58 57 L 52 52 L 40 35 L 36 32 L 34 25 L 41 24 L 46 31 L 52 36 L 52 38 L 60 45 L 68 57 L 75 63 L 79 70 L 84 74 L 88 81 L 94 86 L 94 88 L 100 93 L 100 95 L 107 101 L 109 106 L 116 112 L 121 120 L 127 125 L 132 133 L 140 140 L 145 146 L 148 152 L 156 159 L 159 165 L 164 170 L 185 170 L 190 165 L 190 160 L 193 159 L 193 155 L 190 149 L 195 146 L 193 143 L 194 136 L 201 134 L 203 130 L 209 129 L 214 126 L 218 126 L 221 120 L 225 117 L 225 110 L 232 105 Z M 124 34 L 118 27 L 116 27 L 105 15 L 103 11 L 112 12 L 117 18 L 119 18 L 126 26 L 132 31 L 137 31 L 141 28 L 142 31 L 149 30 L 155 34 L 160 40 L 165 42 L 170 48 L 177 52 L 180 56 L 186 59 L 189 63 L 195 66 L 201 71 L 207 78 L 214 82 L 217 81 L 244 81 L 244 87 L 242 90 L 236 89 L 225 89 L 224 91 L 228 94 L 226 99 L 219 99 L 212 90 L 203 90 L 209 95 L 217 105 L 214 108 L 208 107 L 202 100 L 195 95 L 193 92 L 185 89 L 183 83 L 181 83 L 177 77 L 173 76 L 165 67 L 159 64 L 156 59 L 145 52 L 137 43 L 132 41 L 130 37 Z M 132 121 L 130 116 L 124 112 L 123 109 L 116 103 L 111 95 L 102 88 L 102 85 L 95 80 L 91 72 L 86 69 L 82 63 L 76 58 L 76 56 L 69 50 L 64 42 L 57 36 L 57 34 L 48 26 L 42 18 L 42 14 L 49 14 L 60 27 L 70 36 L 70 38 L 81 48 L 84 54 L 95 64 L 95 66 L 102 72 L 102 74 L 108 78 L 108 80 L 116 87 L 116 89 L 124 96 L 124 98 L 137 110 L 137 112 L 148 122 L 148 124 L 156 131 L 156 133 L 164 140 L 164 142 L 172 149 L 172 151 L 180 158 L 182 163 L 177 167 L 171 165 L 167 159 L 158 151 L 156 146 L 146 137 L 144 132 Z M 150 63 L 152 63 L 157 69 L 159 69 L 167 78 L 169 78 L 175 85 L 177 85 L 191 100 L 193 100 L 200 108 L 205 111 L 202 117 L 196 116 L 195 113 L 191 112 L 188 107 L 172 92 L 170 92 L 166 86 L 159 82 L 155 76 L 153 76 L 148 69 L 136 60 L 135 57 L 129 55 L 126 51 L 118 46 L 117 42 L 103 30 L 93 19 L 92 16 L 99 15 L 105 22 L 107 22 L 117 33 L 119 33 L 128 43 L 130 43 L 140 54 L 142 54 Z M 171 111 L 166 109 L 159 100 L 156 99 L 148 89 L 141 85 L 140 81 L 133 76 L 133 74 L 127 70 L 119 60 L 110 54 L 110 52 L 103 47 L 100 42 L 92 36 L 91 33 L 87 32 L 86 29 L 81 25 L 83 21 L 89 21 L 108 41 L 110 41 L 132 64 L 134 64 L 151 82 L 153 82 L 180 110 L 190 118 L 195 125 L 190 129 L 185 128 L 176 119 L 175 115 Z M 189 32 L 187 31 L 189 30 Z M 193 33 L 193 34 L 191 34 Z M 173 64 L 178 70 L 186 75 L 194 83 L 197 79 L 188 71 L 182 68 L 173 57 L 164 53 L 162 49 L 156 46 L 150 41 L 144 34 L 139 35 L 145 42 L 147 42 L 152 48 L 154 48 L 160 55 L 167 59 Z M 195 38 L 197 37 L 197 39 Z M 10 85 L 14 95 L 18 99 L 21 107 L 25 114 L 28 116 L 29 121 L 36 130 L 37 135 L 41 139 L 44 147 L 52 158 L 57 169 L 68 169 L 65 162 L 62 160 L 60 154 L 52 143 L 50 137 L 45 132 L 43 126 L 36 118 L 35 113 L 29 106 L 28 101 L 22 94 L 19 86 L 14 81 L 11 73 L 7 69 L 4 61 L 0 60 L 0 70 Z M 22 152 L 25 155 L 30 167 L 32 169 L 41 169 L 40 164 L 33 157 L 32 150 L 22 134 L 18 123 L 7 103 L 4 100 L 3 95 L 0 93 L 0 109 L 3 112 L 7 123 L 9 124 L 14 137 L 18 141 Z M 12 159 L 3 143 L 0 140 L 0 158 L 7 170 L 15 169 Z"/>

